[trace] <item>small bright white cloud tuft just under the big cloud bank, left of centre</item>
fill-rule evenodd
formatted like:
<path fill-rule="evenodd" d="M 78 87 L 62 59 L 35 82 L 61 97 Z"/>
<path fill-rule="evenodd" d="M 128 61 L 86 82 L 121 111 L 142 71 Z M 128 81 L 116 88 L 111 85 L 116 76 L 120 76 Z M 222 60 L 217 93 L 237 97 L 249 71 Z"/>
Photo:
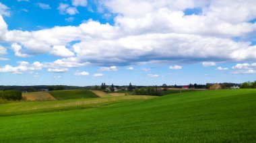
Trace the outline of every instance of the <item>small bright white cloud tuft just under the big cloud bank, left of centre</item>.
<path fill-rule="evenodd" d="M 55 56 L 63 56 L 63 57 L 69 57 L 69 56 L 75 55 L 73 52 L 71 52 L 65 46 L 53 46 L 53 50 L 51 50 L 51 52 L 49 52 L 49 53 L 53 54 Z"/>

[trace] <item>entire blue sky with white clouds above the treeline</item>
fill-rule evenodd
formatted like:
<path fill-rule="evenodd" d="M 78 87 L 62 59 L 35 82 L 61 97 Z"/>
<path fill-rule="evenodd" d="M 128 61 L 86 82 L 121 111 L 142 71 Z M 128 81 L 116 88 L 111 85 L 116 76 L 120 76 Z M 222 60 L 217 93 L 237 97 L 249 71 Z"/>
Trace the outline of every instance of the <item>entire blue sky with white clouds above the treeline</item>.
<path fill-rule="evenodd" d="M 255 0 L 0 1 L 0 85 L 255 80 Z"/>

